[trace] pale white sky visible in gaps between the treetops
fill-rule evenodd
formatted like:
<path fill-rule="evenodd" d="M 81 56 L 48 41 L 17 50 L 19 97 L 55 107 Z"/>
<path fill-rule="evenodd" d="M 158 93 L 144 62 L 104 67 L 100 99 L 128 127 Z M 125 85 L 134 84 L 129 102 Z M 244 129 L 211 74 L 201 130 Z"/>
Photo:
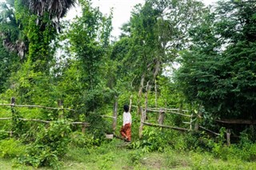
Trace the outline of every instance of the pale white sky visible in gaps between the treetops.
<path fill-rule="evenodd" d="M 112 36 L 118 38 L 121 34 L 120 27 L 122 24 L 129 22 L 130 12 L 133 7 L 138 3 L 144 3 L 145 0 L 92 0 L 93 6 L 99 6 L 99 10 L 103 14 L 110 14 L 110 9 L 113 8 L 113 19 L 112 19 Z M 210 5 L 217 0 L 202 0 L 206 6 Z M 79 13 L 78 8 L 73 8 L 67 14 L 67 18 L 71 19 Z"/>

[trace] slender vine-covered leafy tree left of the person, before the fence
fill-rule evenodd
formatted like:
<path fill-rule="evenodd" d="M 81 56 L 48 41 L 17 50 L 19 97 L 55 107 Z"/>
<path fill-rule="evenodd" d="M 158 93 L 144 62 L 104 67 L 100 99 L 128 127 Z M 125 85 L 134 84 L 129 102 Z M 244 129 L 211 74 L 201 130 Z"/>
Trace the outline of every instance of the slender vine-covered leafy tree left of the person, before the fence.
<path fill-rule="evenodd" d="M 66 32 L 70 42 L 70 53 L 80 65 L 82 75 L 82 107 L 84 113 L 94 112 L 107 96 L 106 82 L 102 75 L 105 70 L 111 31 L 111 16 L 103 16 L 98 8 L 93 8 L 90 1 L 80 1 L 82 16 L 75 18 Z"/>

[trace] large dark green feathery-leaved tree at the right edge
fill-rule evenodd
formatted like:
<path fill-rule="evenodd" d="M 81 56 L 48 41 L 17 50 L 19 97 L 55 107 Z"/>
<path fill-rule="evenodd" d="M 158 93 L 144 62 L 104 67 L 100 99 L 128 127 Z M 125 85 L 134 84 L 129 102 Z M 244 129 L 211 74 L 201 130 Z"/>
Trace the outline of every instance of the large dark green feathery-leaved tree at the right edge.
<path fill-rule="evenodd" d="M 225 1 L 190 32 L 193 45 L 176 77 L 186 98 L 212 117 L 256 117 L 255 26 L 255 2 Z"/>

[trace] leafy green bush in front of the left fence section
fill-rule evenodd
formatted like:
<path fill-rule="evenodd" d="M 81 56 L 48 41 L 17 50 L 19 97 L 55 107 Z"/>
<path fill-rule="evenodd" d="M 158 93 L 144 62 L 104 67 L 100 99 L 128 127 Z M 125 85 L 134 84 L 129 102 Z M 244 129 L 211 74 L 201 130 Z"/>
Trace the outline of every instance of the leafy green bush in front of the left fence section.
<path fill-rule="evenodd" d="M 24 156 L 18 161 L 34 167 L 50 166 L 58 168 L 58 159 L 67 152 L 70 142 L 70 125 L 65 121 L 50 123 L 48 128 L 41 128 L 34 143 L 29 145 Z"/>

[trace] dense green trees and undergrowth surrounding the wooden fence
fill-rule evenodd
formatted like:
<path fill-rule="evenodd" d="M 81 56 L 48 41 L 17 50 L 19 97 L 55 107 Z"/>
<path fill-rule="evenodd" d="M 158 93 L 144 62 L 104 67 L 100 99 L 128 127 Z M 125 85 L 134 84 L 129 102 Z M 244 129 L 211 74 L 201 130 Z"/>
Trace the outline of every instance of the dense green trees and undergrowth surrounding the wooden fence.
<path fill-rule="evenodd" d="M 81 16 L 61 21 L 76 3 Z M 132 109 L 133 142 L 128 148 L 165 152 L 169 146 L 213 152 L 222 159 L 255 160 L 255 8 L 250 0 L 219 1 L 214 6 L 194 0 L 146 0 L 134 6 L 120 37 L 110 41 L 112 14 L 102 14 L 90 1 L 2 3 L 2 105 L 15 97 L 18 105 L 55 108 L 61 103 L 66 110 L 1 107 L 1 117 L 12 119 L 0 121 L 0 156 L 14 158 L 15 164 L 58 168 L 67 147 L 89 149 L 109 142 L 105 134 L 113 133 L 112 122 L 103 116 L 112 116 L 118 100 L 121 126 L 122 105 L 132 97 L 138 109 Z M 139 137 L 143 107 L 186 109 L 218 137 L 194 127 L 184 134 L 144 127 Z M 156 113 L 147 119 L 154 123 L 155 117 Z M 218 123 L 230 119 L 250 124 Z M 81 132 L 81 126 L 71 124 L 74 121 L 90 126 Z M 165 118 L 166 125 L 187 128 L 184 121 L 190 120 Z M 228 146 L 226 128 L 234 136 Z M 134 159 L 140 160 L 136 154 Z"/>

